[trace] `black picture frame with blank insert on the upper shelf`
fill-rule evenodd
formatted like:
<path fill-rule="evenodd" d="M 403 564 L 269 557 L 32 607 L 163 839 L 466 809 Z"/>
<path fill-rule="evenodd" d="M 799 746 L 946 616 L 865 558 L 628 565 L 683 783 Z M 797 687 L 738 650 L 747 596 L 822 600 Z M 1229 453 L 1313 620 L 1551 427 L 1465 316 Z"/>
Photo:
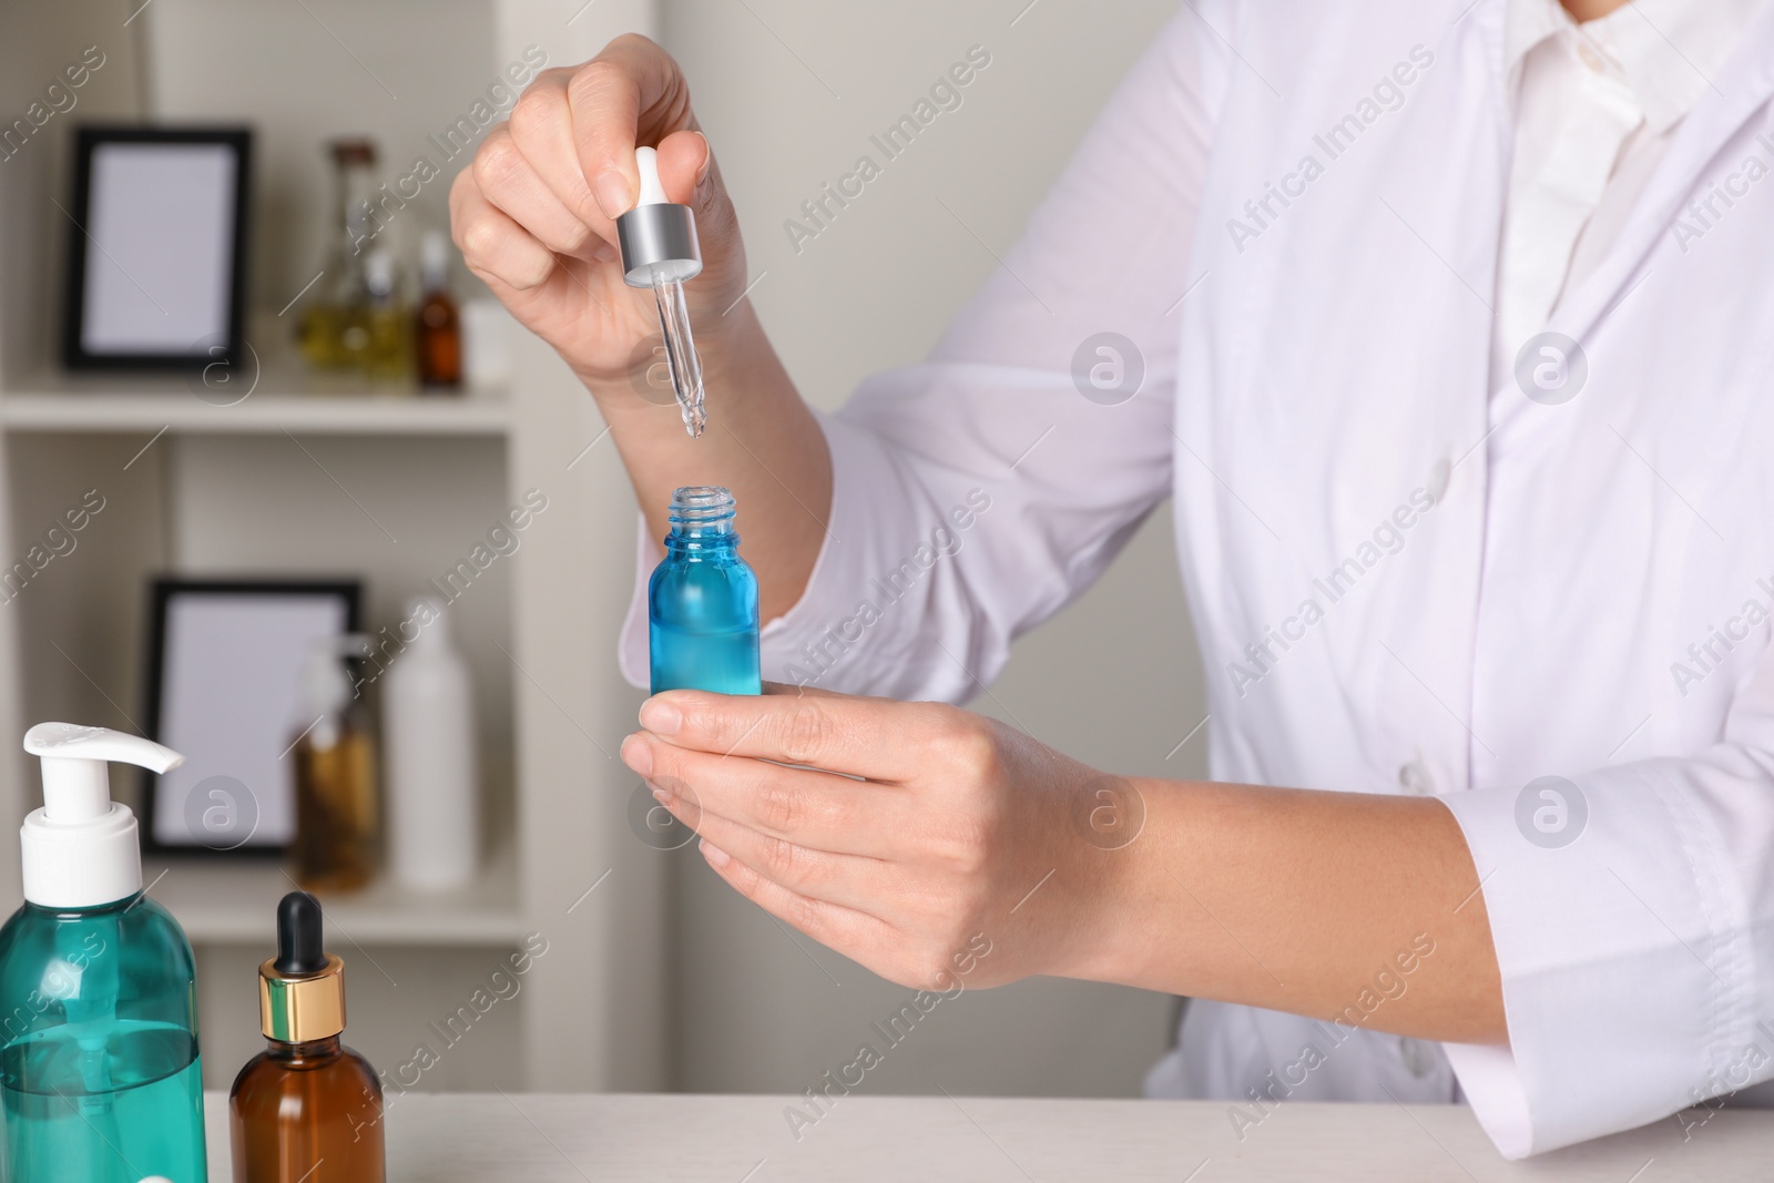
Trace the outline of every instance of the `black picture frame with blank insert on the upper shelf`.
<path fill-rule="evenodd" d="M 62 364 L 193 371 L 241 360 L 252 133 L 75 131 Z"/>

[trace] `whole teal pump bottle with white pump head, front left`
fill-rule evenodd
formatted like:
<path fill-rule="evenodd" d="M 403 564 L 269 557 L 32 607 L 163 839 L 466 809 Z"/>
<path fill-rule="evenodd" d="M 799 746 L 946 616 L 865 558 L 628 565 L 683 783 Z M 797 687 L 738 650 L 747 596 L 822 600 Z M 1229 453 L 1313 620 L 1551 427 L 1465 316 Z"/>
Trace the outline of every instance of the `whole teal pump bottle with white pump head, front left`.
<path fill-rule="evenodd" d="M 184 757 L 103 727 L 39 724 L 43 809 L 20 828 L 25 906 L 0 928 L 7 1183 L 206 1183 L 192 945 L 142 894 L 135 814 L 106 761 Z"/>

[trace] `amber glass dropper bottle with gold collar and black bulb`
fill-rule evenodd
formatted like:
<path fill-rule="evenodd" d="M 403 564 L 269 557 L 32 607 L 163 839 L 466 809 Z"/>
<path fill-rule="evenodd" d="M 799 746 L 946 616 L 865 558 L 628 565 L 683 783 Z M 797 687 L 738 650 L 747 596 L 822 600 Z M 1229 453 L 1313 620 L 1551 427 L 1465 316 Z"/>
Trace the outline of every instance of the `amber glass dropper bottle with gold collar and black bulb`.
<path fill-rule="evenodd" d="M 236 1183 L 383 1183 L 381 1084 L 344 1030 L 344 963 L 323 952 L 321 906 L 277 905 L 277 956 L 259 967 L 270 1046 L 229 1093 Z"/>

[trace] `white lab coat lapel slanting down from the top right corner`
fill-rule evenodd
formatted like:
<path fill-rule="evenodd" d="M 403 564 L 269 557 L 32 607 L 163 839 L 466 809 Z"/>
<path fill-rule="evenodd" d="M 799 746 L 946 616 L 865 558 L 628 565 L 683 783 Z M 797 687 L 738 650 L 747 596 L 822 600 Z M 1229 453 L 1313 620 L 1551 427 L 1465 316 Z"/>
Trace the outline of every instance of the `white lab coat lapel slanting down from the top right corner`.
<path fill-rule="evenodd" d="M 1510 0 L 1513 7 L 1526 2 L 1529 0 Z M 1737 4 L 1737 0 L 1715 2 L 1721 7 Z M 1692 112 L 1675 128 L 1669 151 L 1657 165 L 1627 225 L 1621 227 L 1609 257 L 1559 305 L 1549 328 L 1582 341 L 1597 321 L 1629 300 L 1646 278 L 1641 270 L 1652 245 L 1668 232 L 1694 188 L 1703 183 L 1707 170 L 1714 163 L 1723 170 L 1742 163 L 1714 161 L 1714 158 L 1774 94 L 1774 4 L 1756 7 L 1735 51 L 1708 82 L 1703 82 L 1703 94 Z"/>

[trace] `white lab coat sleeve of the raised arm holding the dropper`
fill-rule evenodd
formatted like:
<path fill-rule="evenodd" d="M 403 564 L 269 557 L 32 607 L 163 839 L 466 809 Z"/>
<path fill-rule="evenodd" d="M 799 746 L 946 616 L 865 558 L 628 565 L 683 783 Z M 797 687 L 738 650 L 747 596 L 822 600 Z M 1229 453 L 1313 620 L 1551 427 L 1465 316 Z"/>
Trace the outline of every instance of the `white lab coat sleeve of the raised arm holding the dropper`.
<path fill-rule="evenodd" d="M 1219 69 L 1201 28 L 1187 11 L 1164 28 L 931 356 L 820 415 L 832 513 L 805 592 L 765 626 L 766 679 L 965 701 L 1169 493 L 1174 310 Z M 985 257 L 1006 227 L 953 181 L 949 248 Z M 621 642 L 635 685 L 658 553 L 640 539 Z"/>

